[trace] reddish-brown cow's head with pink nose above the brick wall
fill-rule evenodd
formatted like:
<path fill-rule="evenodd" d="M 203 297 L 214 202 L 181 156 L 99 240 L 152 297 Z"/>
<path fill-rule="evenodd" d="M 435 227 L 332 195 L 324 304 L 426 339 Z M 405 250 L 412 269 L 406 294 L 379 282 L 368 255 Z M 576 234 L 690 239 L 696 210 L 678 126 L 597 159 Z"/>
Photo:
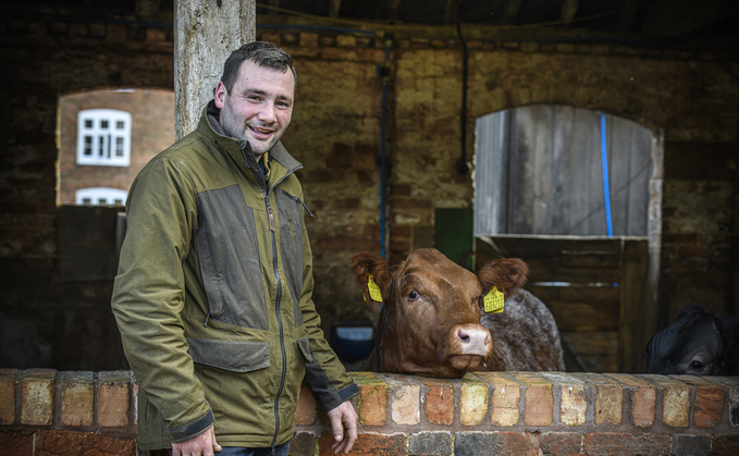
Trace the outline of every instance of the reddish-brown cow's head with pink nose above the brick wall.
<path fill-rule="evenodd" d="M 480 325 L 480 281 L 440 251 L 416 250 L 393 271 L 364 251 L 352 269 L 365 300 L 383 304 L 368 369 L 460 378 L 492 355 L 490 331 Z"/>

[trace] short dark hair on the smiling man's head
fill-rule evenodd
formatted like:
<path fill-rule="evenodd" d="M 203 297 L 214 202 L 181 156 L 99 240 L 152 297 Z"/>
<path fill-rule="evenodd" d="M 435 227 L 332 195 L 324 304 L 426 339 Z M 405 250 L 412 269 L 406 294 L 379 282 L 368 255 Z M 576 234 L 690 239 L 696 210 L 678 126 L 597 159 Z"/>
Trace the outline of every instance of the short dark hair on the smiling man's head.
<path fill-rule="evenodd" d="M 223 64 L 223 76 L 221 76 L 221 82 L 226 90 L 229 90 L 229 94 L 231 94 L 231 89 L 234 88 L 238 72 L 246 60 L 250 60 L 260 66 L 267 66 L 283 72 L 286 72 L 287 69 L 290 69 L 290 71 L 293 72 L 295 88 L 297 88 L 297 74 L 295 73 L 295 66 L 293 66 L 293 58 L 271 42 L 251 41 L 231 52 L 231 56 L 229 56 Z"/>

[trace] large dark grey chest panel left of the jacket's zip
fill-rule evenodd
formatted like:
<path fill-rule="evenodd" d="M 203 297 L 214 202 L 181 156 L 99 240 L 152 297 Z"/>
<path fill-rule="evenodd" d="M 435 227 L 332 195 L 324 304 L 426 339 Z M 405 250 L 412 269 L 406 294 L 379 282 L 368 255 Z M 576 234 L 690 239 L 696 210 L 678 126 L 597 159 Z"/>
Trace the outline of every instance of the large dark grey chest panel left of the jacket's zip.
<path fill-rule="evenodd" d="M 254 210 L 238 185 L 197 195 L 197 246 L 210 318 L 268 330 Z"/>

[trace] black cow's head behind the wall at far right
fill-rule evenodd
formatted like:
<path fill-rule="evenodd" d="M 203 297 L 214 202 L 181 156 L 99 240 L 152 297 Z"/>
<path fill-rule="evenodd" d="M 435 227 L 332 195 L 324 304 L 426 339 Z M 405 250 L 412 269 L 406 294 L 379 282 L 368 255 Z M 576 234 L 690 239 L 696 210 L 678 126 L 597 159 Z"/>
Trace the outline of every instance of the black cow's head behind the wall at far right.
<path fill-rule="evenodd" d="M 677 319 L 646 345 L 649 373 L 718 375 L 724 343 L 716 317 L 699 305 L 683 309 Z"/>

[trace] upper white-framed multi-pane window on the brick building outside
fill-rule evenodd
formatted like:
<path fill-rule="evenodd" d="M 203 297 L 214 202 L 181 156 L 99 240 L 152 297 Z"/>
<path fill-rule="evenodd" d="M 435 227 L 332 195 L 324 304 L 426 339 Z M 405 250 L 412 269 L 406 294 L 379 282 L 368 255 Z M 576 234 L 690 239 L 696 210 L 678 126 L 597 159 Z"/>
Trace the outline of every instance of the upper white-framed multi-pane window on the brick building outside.
<path fill-rule="evenodd" d="M 77 113 L 77 164 L 128 167 L 131 114 L 113 109 Z"/>

